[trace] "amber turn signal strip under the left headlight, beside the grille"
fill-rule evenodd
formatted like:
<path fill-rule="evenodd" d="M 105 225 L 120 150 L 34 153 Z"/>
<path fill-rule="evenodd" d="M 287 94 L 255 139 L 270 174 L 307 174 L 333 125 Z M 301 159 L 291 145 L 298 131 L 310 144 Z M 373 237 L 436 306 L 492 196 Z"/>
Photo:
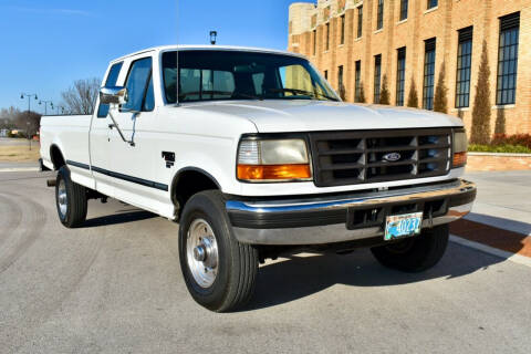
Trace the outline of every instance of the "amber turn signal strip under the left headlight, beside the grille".
<path fill-rule="evenodd" d="M 241 180 L 280 180 L 310 179 L 310 165 L 238 165 L 238 179 Z"/>

